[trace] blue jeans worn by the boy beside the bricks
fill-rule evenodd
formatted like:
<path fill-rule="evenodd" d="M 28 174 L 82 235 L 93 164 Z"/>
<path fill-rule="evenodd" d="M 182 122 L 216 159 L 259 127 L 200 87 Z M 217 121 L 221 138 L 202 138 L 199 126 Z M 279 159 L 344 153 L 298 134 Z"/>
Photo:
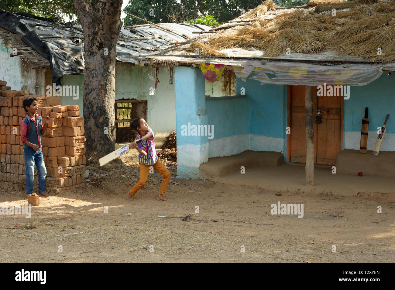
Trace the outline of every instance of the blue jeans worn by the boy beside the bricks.
<path fill-rule="evenodd" d="M 26 167 L 26 195 L 33 193 L 34 181 L 34 164 L 38 170 L 38 193 L 45 192 L 45 178 L 47 177 L 47 168 L 45 168 L 43 158 L 43 148 L 34 151 L 33 148 L 23 148 L 23 155 Z"/>

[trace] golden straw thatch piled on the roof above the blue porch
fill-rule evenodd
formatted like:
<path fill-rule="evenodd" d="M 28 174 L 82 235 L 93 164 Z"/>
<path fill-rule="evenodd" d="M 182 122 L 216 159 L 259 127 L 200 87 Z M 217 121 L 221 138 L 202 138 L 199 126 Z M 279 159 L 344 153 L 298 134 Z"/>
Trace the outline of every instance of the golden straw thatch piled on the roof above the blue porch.
<path fill-rule="evenodd" d="M 219 30 L 189 49 L 223 56 L 222 49 L 254 47 L 265 50 L 264 57 L 277 57 L 289 48 L 292 53 L 334 51 L 376 62 L 395 61 L 395 2 L 311 0 L 306 9 L 288 9 L 267 20 L 263 15 L 272 13 L 267 11 L 273 6 L 273 1 L 265 1 L 239 17 L 248 19 L 247 25 Z"/>

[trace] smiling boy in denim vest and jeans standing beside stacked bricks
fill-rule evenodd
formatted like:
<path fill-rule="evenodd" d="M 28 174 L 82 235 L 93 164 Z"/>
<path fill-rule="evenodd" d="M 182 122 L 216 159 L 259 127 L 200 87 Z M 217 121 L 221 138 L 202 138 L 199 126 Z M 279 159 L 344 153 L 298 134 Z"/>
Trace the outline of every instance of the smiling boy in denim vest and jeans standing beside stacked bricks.
<path fill-rule="evenodd" d="M 33 193 L 34 164 L 38 170 L 38 193 L 40 196 L 48 197 L 45 193 L 45 178 L 47 168 L 45 168 L 41 135 L 47 130 L 48 122 L 51 120 L 46 116 L 44 122 L 37 114 L 38 104 L 36 98 L 29 97 L 23 100 L 23 109 L 27 112 L 26 117 L 21 122 L 21 141 L 23 143 L 23 155 L 26 167 L 26 194 Z"/>

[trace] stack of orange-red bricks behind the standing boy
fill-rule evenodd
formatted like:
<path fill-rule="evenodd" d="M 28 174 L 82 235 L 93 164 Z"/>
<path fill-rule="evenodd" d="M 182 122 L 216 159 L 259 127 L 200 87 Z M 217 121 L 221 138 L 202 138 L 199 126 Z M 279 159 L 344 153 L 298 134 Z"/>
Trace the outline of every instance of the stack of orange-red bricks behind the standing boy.
<path fill-rule="evenodd" d="M 85 182 L 84 118 L 78 105 L 59 105 L 59 97 L 36 96 L 28 90 L 15 91 L 0 80 L 0 188 L 25 189 L 26 170 L 20 123 L 26 117 L 23 100 L 35 97 L 38 115 L 43 121 L 50 116 L 47 130 L 41 136 L 41 146 L 47 182 L 50 187 L 74 189 Z M 35 168 L 34 184 L 38 185 Z"/>

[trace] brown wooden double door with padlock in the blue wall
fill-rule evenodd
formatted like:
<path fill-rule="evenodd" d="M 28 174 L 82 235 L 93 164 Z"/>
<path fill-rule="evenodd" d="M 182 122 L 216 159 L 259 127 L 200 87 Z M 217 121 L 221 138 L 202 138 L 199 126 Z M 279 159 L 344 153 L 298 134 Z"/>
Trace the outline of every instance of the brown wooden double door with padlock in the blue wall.
<path fill-rule="evenodd" d="M 288 156 L 291 162 L 306 163 L 306 110 L 305 86 L 288 86 L 291 127 Z M 314 163 L 334 165 L 340 151 L 342 97 L 317 96 L 317 88 L 312 87 Z M 316 123 L 317 112 L 321 112 L 321 123 Z M 326 112 L 328 111 L 328 112 Z"/>

